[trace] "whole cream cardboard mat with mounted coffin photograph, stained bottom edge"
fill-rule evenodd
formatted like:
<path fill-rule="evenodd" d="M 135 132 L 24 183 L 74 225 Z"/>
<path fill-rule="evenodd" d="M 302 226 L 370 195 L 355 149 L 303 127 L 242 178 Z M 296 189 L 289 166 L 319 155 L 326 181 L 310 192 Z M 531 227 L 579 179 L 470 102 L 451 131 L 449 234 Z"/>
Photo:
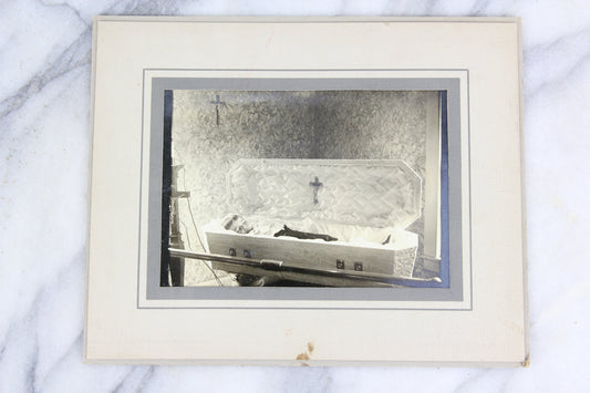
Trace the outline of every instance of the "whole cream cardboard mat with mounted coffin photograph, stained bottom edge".
<path fill-rule="evenodd" d="M 93 31 L 87 361 L 527 364 L 518 20 Z"/>

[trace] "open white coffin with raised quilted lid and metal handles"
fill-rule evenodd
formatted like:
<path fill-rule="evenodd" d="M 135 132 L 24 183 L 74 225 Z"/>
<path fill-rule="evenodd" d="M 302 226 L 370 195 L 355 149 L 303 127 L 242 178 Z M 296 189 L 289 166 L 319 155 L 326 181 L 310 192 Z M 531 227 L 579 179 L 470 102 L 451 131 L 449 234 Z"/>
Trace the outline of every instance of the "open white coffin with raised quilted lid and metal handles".
<path fill-rule="evenodd" d="M 203 227 L 208 251 L 262 265 L 215 269 L 322 286 L 412 278 L 418 235 L 406 228 L 421 215 L 422 180 L 403 161 L 241 159 L 227 187 L 228 214 L 253 229 L 238 234 L 215 219 Z M 283 225 L 338 240 L 275 237 Z"/>

